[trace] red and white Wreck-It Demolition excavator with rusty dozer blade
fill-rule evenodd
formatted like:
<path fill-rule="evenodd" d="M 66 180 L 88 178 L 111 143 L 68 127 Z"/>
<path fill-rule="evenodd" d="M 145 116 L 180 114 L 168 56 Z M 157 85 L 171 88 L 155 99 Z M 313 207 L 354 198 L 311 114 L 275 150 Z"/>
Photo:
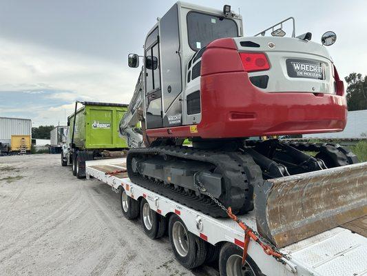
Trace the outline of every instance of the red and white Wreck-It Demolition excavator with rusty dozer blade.
<path fill-rule="evenodd" d="M 212 217 L 227 216 L 221 205 L 255 212 L 275 246 L 366 216 L 367 163 L 348 148 L 260 139 L 344 130 L 344 83 L 325 47 L 336 34 L 311 39 L 293 17 L 244 36 L 229 5 L 175 3 L 143 56 L 128 57 L 131 68 L 143 59 L 119 127 L 131 181 Z"/>

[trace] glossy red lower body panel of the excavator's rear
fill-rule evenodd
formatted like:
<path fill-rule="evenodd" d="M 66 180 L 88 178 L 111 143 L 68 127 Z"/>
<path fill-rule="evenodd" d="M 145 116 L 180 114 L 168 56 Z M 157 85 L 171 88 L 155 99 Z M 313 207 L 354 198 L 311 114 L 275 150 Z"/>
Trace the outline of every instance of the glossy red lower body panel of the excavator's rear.
<path fill-rule="evenodd" d="M 149 129 L 149 137 L 298 135 L 337 132 L 346 126 L 344 84 L 336 68 L 335 94 L 264 92 L 251 83 L 240 52 L 229 38 L 217 39 L 207 46 L 202 54 L 200 75 L 200 123 Z"/>

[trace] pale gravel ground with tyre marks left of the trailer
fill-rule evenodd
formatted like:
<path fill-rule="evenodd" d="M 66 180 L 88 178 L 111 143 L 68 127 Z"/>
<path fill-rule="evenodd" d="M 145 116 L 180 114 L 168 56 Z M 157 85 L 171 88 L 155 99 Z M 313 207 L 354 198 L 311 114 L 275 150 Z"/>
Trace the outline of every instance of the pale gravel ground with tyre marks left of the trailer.
<path fill-rule="evenodd" d="M 125 219 L 118 194 L 59 155 L 0 157 L 0 275 L 218 275 L 183 268 L 168 237 Z"/>

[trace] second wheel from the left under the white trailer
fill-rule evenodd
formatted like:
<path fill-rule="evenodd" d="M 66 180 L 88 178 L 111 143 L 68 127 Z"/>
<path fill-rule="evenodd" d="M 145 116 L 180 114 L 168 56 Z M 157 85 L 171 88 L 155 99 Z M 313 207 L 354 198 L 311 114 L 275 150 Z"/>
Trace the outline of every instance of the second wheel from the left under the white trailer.
<path fill-rule="evenodd" d="M 140 202 L 140 219 L 145 234 L 151 239 L 158 239 L 165 234 L 165 217 L 151 210 L 146 199 L 142 199 Z"/>

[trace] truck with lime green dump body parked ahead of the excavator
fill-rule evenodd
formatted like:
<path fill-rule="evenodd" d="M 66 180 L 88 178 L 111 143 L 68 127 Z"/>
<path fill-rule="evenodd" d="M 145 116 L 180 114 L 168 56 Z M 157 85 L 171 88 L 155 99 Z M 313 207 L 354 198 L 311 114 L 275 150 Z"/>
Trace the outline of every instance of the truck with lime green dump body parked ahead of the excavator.
<path fill-rule="evenodd" d="M 78 103 L 83 106 L 77 109 Z M 73 174 L 83 178 L 85 161 L 122 155 L 127 141 L 120 137 L 118 124 L 126 111 L 127 104 L 77 101 L 74 114 L 67 117 L 61 165 L 71 164 Z"/>

